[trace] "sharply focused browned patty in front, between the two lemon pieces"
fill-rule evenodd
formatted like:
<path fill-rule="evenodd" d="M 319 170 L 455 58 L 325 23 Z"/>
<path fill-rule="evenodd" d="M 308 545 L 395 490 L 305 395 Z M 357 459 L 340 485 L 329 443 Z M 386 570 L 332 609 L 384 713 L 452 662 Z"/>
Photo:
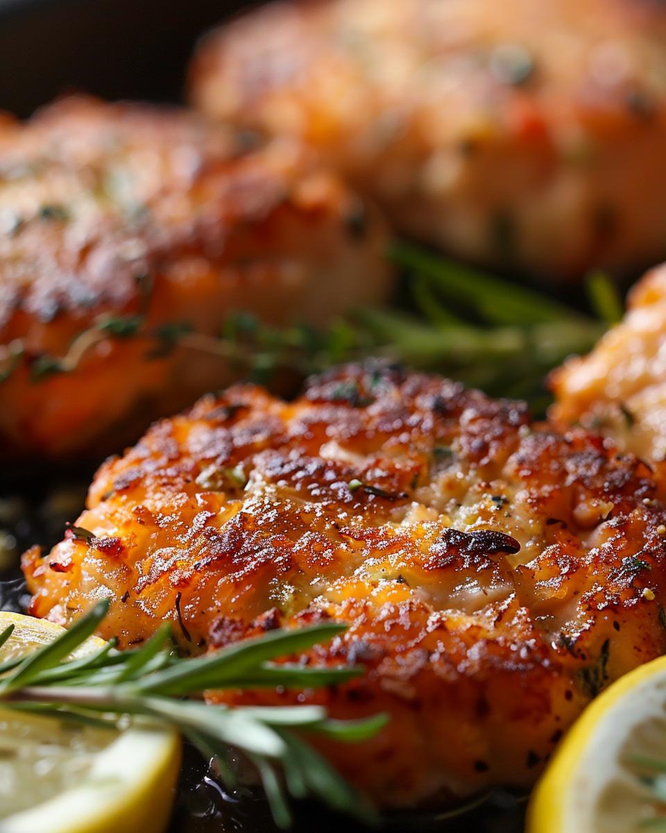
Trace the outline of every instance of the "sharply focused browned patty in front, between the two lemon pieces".
<path fill-rule="evenodd" d="M 121 646 L 162 621 L 191 652 L 349 624 L 303 661 L 362 662 L 360 680 L 226 700 L 385 711 L 326 752 L 406 806 L 531 785 L 585 704 L 664 652 L 661 499 L 593 433 L 368 362 L 296 402 L 236 386 L 159 422 L 98 471 L 87 532 L 23 567 L 30 611 L 64 625 L 110 596 Z"/>

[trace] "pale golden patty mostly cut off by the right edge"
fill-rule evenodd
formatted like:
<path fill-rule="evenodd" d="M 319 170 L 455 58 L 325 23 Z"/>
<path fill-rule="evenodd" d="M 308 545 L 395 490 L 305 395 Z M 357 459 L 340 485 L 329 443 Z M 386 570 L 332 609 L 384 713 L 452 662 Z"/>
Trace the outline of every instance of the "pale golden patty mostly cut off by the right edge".
<path fill-rule="evenodd" d="M 666 267 L 636 284 L 623 321 L 551 381 L 555 417 L 582 422 L 649 461 L 666 460 Z"/>

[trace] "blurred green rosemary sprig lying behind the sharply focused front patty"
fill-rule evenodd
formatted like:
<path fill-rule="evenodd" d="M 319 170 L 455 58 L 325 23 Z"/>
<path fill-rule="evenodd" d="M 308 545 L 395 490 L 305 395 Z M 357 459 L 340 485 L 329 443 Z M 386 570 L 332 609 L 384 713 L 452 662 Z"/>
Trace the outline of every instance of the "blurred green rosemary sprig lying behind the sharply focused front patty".
<path fill-rule="evenodd" d="M 437 370 L 494 396 L 549 403 L 544 377 L 572 354 L 594 347 L 621 308 L 611 279 L 595 272 L 590 313 L 546 292 L 395 242 L 389 257 L 408 280 L 415 312 L 365 310 L 360 321 L 378 342 L 398 346 L 400 360 Z"/>

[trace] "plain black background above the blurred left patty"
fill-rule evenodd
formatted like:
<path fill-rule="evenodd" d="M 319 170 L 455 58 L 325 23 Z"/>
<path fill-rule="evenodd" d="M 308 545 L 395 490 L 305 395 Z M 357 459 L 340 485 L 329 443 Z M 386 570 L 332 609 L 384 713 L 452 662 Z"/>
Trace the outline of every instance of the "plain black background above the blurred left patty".
<path fill-rule="evenodd" d="M 0 109 L 64 92 L 182 100 L 197 37 L 242 0 L 0 0 Z"/>

